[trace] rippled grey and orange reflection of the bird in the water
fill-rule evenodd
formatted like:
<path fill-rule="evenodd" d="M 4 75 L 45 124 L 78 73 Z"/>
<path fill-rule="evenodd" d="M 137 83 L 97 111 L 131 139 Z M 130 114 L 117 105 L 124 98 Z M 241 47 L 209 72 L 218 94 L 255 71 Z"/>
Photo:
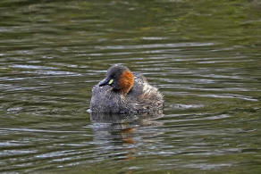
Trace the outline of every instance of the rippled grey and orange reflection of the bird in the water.
<path fill-rule="evenodd" d="M 156 119 L 162 116 L 161 111 L 142 115 L 90 113 L 94 143 L 99 145 L 101 153 L 108 154 L 110 158 L 133 160 L 139 141 L 137 128 L 160 126 L 161 122 Z"/>

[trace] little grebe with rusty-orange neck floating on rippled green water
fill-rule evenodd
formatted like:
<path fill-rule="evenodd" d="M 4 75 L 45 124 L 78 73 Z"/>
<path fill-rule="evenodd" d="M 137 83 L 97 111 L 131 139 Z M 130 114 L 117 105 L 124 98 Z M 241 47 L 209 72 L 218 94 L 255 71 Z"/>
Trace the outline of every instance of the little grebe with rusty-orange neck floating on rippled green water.
<path fill-rule="evenodd" d="M 163 95 L 141 74 L 114 64 L 106 78 L 92 88 L 90 112 L 144 113 L 162 110 Z"/>

